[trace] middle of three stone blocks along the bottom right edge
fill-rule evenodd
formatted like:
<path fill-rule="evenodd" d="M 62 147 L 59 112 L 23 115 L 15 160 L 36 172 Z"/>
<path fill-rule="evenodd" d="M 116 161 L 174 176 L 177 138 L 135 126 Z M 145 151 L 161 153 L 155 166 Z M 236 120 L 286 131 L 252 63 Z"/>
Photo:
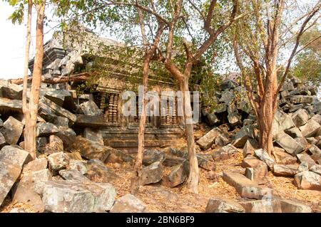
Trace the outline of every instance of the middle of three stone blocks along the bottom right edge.
<path fill-rule="evenodd" d="M 246 213 L 281 213 L 281 204 L 277 199 L 264 199 L 240 202 Z"/>

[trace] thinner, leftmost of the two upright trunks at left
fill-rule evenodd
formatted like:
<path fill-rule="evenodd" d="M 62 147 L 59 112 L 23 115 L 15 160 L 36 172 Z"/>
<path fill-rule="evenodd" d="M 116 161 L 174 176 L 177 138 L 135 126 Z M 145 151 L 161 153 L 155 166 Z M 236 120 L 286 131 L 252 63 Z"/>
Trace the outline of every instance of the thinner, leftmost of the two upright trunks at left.
<path fill-rule="evenodd" d="M 27 18 L 27 34 L 26 34 L 26 50 L 24 56 L 24 89 L 22 90 L 22 112 L 24 112 L 24 149 L 30 152 L 31 157 L 35 158 L 34 148 L 32 145 L 32 138 L 29 137 L 30 127 L 30 111 L 27 103 L 27 90 L 28 90 L 28 66 L 29 66 L 29 51 L 31 42 L 31 13 L 32 13 L 32 0 L 28 2 L 28 18 Z"/>

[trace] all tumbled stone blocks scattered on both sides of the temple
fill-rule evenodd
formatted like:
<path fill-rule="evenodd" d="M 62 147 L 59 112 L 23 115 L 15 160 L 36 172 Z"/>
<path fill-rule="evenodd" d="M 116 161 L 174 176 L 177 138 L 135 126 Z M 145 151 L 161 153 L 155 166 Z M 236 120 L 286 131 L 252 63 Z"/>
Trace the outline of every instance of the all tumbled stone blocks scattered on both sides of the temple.
<path fill-rule="evenodd" d="M 10 196 L 39 212 L 146 212 L 146 205 L 131 194 L 116 199 L 113 182 L 118 175 L 105 165 L 133 163 L 134 157 L 104 146 L 97 128 L 73 130 L 81 117 L 76 115 L 79 110 L 101 114 L 94 102 L 78 106 L 66 90 L 41 88 L 37 159 L 31 161 L 24 151 L 21 89 L 0 82 L 0 205 Z M 198 165 L 215 171 L 215 162 L 243 154 L 244 171 L 224 171 L 221 177 L 245 200 L 212 198 L 206 212 L 312 212 L 299 201 L 275 196 L 266 177 L 272 171 L 275 176 L 292 177 L 298 189 L 321 191 L 321 102 L 316 93 L 299 80 L 285 82 L 273 122 L 273 159 L 258 149 L 258 125 L 245 90 L 233 80 L 223 82 L 214 97 L 218 107 L 202 110 L 203 120 L 213 129 L 196 141 Z M 170 170 L 165 172 L 164 167 Z M 187 147 L 144 152 L 142 185 L 173 188 L 183 184 L 188 173 Z"/>

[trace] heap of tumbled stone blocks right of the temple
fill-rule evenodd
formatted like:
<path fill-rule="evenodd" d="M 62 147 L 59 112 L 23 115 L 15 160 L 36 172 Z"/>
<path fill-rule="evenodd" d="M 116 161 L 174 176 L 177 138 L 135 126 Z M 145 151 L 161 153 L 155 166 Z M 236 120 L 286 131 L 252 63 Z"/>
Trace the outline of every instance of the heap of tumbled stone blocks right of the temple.
<path fill-rule="evenodd" d="M 229 86 L 222 93 L 219 102 L 225 107 L 235 107 L 238 105 L 232 95 L 235 83 L 228 80 L 225 84 Z M 235 187 L 241 197 L 255 199 L 240 204 L 213 199 L 208 203 L 208 212 L 311 211 L 310 207 L 304 204 L 277 199 L 266 184 L 267 172 L 272 171 L 275 176 L 292 177 L 297 189 L 321 191 L 321 102 L 317 98 L 316 90 L 315 87 L 302 85 L 297 79 L 288 80 L 283 86 L 280 91 L 280 105 L 272 124 L 275 158 L 270 157 L 265 150 L 258 149 L 258 124 L 251 112 L 244 119 L 238 115 L 238 124 L 240 125 L 240 120 L 243 123 L 240 130 L 228 132 L 235 127 L 236 122 L 228 109 L 228 124 L 214 127 L 196 141 L 205 154 L 212 155 L 211 161 L 229 159 L 242 151 L 243 169 L 238 172 L 223 172 L 222 177 Z M 242 110 L 242 116 L 244 112 Z M 206 115 L 208 121 L 215 119 L 209 115 Z M 267 197 L 272 201 L 272 205 L 263 206 Z"/>

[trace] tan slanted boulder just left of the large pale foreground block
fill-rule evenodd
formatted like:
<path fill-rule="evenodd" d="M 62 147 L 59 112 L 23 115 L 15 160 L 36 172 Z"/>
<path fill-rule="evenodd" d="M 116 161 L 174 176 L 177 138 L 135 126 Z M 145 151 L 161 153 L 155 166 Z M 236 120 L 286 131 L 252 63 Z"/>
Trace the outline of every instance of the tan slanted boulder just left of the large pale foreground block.
<path fill-rule="evenodd" d="M 51 173 L 49 169 L 40 169 L 36 171 L 24 169 L 22 179 L 16 184 L 15 189 L 13 190 L 13 201 L 28 204 L 29 206 L 33 206 L 36 211 L 43 212 L 44 204 L 42 203 L 39 194 L 36 193 L 35 184 L 36 182 L 49 181 L 50 179 Z"/>

